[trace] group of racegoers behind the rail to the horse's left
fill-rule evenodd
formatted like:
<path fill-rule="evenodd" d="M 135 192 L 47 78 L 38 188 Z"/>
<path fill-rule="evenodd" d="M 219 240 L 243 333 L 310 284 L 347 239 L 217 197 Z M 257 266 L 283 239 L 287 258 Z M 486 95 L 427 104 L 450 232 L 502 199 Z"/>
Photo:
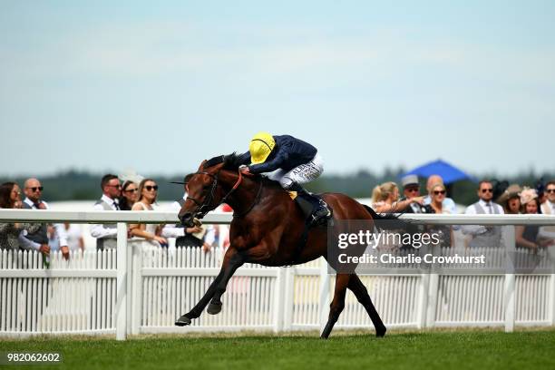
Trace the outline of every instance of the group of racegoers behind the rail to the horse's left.
<path fill-rule="evenodd" d="M 170 205 L 177 212 L 187 198 L 187 184 L 184 180 L 184 195 Z M 125 180 L 123 185 L 116 175 L 106 174 L 101 180 L 102 196 L 93 204 L 95 210 L 139 210 L 161 209 L 157 202 L 158 184 L 152 179 Z M 48 209 L 42 200 L 44 187 L 37 179 L 24 182 L 24 195 L 15 182 L 5 182 L 0 186 L 0 208 L 2 209 Z M 90 226 L 91 236 L 96 239 L 96 249 L 116 248 L 116 224 L 94 224 Z M 176 238 L 176 246 L 200 247 L 205 251 L 212 248 L 220 230 L 211 225 L 185 228 L 180 224 L 130 224 L 128 237 L 143 239 L 154 247 L 167 248 L 169 238 Z M 227 235 L 225 232 L 222 235 Z M 0 223 L 0 249 L 37 250 L 49 255 L 51 250 L 61 250 L 64 258 L 69 251 L 84 250 L 82 229 L 69 223 L 5 222 Z"/>

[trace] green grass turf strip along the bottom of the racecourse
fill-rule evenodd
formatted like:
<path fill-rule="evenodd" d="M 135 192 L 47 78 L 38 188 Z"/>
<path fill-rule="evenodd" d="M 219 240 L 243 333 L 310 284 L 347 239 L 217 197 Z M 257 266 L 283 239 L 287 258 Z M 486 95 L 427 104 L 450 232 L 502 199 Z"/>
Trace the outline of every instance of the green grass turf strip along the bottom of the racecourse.
<path fill-rule="evenodd" d="M 555 369 L 555 331 L 0 340 L 0 352 L 59 351 L 57 369 Z"/>

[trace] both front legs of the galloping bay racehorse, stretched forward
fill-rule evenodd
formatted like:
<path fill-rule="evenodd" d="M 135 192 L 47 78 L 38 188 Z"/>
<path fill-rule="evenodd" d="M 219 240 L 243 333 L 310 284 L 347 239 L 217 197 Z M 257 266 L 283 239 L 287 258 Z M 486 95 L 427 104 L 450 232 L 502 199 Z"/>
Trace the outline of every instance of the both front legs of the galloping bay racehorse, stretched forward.
<path fill-rule="evenodd" d="M 204 296 L 200 298 L 199 303 L 197 303 L 197 305 L 195 305 L 195 307 L 193 307 L 187 314 L 180 316 L 180 318 L 176 320 L 175 325 L 177 326 L 190 325 L 191 320 L 193 318 L 197 318 L 200 316 L 200 314 L 202 313 L 202 310 L 204 309 L 204 307 L 206 307 L 209 304 L 209 301 L 212 297 L 218 297 L 217 302 L 219 302 L 219 309 L 221 309 L 220 298 L 223 292 L 226 290 L 226 285 L 228 284 L 229 278 L 233 276 L 233 273 L 237 270 L 237 268 L 239 268 L 243 264 L 242 261 L 239 263 L 239 260 L 241 260 L 241 258 L 235 257 L 235 256 L 239 256 L 239 253 L 237 253 L 236 249 L 229 248 L 226 251 L 226 255 L 224 256 L 224 260 L 221 265 L 221 269 L 219 270 L 218 276 L 214 279 L 214 281 L 212 281 L 212 284 L 210 284 Z M 217 295 L 216 293 L 222 289 L 221 287 L 222 284 L 223 284 L 223 290 L 219 295 Z M 211 303 L 210 303 L 210 307 L 212 307 Z M 219 310 L 218 312 L 215 312 L 214 308 L 213 307 L 210 308 L 210 307 L 208 309 L 209 314 L 215 315 L 219 312 Z"/>

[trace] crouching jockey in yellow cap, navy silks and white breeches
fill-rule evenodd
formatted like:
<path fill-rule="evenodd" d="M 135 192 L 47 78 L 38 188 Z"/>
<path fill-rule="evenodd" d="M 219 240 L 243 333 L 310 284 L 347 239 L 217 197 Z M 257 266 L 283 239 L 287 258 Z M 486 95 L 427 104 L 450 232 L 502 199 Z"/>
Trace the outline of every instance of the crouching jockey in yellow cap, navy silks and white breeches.
<path fill-rule="evenodd" d="M 239 163 L 243 164 L 240 170 L 245 174 L 266 173 L 290 194 L 297 191 L 297 196 L 291 198 L 308 213 L 311 225 L 331 217 L 326 202 L 301 186 L 316 180 L 324 170 L 322 158 L 309 143 L 289 135 L 258 132 L 250 141 L 248 151 L 239 156 Z"/>

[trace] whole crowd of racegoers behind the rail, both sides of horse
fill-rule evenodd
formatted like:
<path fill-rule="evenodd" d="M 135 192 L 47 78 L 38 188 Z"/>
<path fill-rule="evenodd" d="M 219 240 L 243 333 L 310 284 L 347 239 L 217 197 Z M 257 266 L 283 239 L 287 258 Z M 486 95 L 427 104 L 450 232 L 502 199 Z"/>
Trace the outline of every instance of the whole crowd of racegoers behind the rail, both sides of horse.
<path fill-rule="evenodd" d="M 187 198 L 187 177 L 183 180 L 183 197 L 175 200 L 168 210 L 177 212 Z M 494 186 L 495 185 L 495 186 Z M 497 186 L 497 189 L 496 189 Z M 377 212 L 395 213 L 442 213 L 456 214 L 457 206 L 449 198 L 448 187 L 439 175 L 426 180 L 425 193 L 421 193 L 420 180 L 416 175 L 407 175 L 401 180 L 402 194 L 393 181 L 385 182 L 372 191 L 372 207 Z M 15 182 L 5 182 L 0 186 L 0 208 L 3 209 L 48 209 L 42 199 L 44 188 L 41 182 L 31 178 L 24 181 L 22 190 Z M 160 209 L 157 203 L 158 185 L 155 180 L 122 180 L 113 174 L 106 174 L 101 180 L 102 196 L 93 209 L 97 210 L 140 210 Z M 555 180 L 545 186 L 532 189 L 511 184 L 499 189 L 499 184 L 491 180 L 480 181 L 477 201 L 468 206 L 466 214 L 555 214 Z M 463 227 L 463 232 L 472 237 L 472 245 L 492 242 L 499 235 L 496 228 L 483 226 Z M 547 229 L 555 232 L 555 229 Z M 541 248 L 555 244 L 554 239 L 542 238 L 538 226 L 517 226 L 516 243 L 521 248 Z M 92 225 L 90 233 L 96 239 L 96 248 L 116 247 L 117 228 L 115 224 Z M 183 227 L 180 224 L 154 225 L 131 224 L 130 239 L 145 239 L 152 246 L 168 247 L 168 239 L 176 239 L 176 247 L 194 246 L 209 251 L 220 237 L 221 231 L 210 225 Z M 471 245 L 471 246 L 472 246 Z M 50 250 L 61 250 L 64 258 L 69 251 L 84 249 L 81 229 L 69 223 L 45 224 L 29 222 L 0 223 L 0 248 L 38 250 L 44 254 Z"/>

